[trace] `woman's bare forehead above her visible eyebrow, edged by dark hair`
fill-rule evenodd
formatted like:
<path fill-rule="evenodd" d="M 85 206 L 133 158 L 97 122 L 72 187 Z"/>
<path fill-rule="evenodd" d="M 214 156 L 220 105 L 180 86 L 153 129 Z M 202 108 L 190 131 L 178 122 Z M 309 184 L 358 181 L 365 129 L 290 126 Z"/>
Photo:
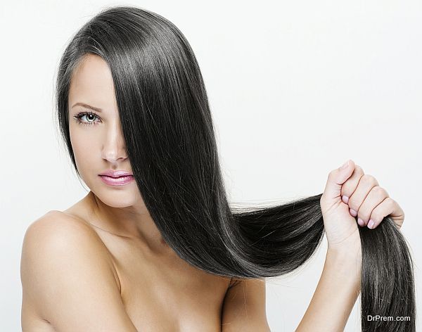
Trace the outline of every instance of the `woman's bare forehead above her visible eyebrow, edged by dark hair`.
<path fill-rule="evenodd" d="M 69 106 L 88 103 L 103 109 L 115 109 L 113 76 L 101 56 L 89 54 L 73 72 L 70 80 Z"/>

